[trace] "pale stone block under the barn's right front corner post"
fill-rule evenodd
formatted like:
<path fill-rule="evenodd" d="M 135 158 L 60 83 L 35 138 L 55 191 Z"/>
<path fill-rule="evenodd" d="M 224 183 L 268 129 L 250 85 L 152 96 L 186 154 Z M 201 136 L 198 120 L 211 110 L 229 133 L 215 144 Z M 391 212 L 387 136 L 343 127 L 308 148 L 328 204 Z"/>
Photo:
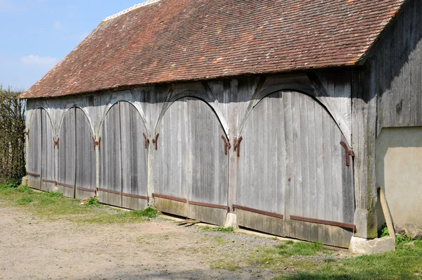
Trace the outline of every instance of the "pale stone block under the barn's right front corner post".
<path fill-rule="evenodd" d="M 359 254 L 380 254 L 395 250 L 395 238 L 383 237 L 366 239 L 353 236 L 350 240 L 350 247 L 353 253 Z"/>

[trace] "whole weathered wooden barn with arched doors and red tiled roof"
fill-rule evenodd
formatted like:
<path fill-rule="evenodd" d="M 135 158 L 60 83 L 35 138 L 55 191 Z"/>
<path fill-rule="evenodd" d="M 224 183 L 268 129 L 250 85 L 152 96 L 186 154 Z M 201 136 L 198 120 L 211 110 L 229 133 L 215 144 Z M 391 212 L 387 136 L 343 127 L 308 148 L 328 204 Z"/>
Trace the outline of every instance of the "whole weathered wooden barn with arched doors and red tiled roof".
<path fill-rule="evenodd" d="M 20 98 L 28 184 L 348 247 L 422 226 L 422 1 L 150 0 Z M 378 222 L 377 222 L 378 221 Z"/>

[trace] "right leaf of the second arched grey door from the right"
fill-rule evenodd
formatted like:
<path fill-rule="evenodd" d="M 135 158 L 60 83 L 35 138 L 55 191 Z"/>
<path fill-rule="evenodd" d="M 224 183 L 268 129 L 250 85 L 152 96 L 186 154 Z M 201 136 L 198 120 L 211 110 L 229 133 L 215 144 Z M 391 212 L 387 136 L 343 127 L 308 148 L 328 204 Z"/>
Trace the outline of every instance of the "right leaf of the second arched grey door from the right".
<path fill-rule="evenodd" d="M 228 211 L 229 149 L 214 111 L 196 98 L 188 108 L 188 217 L 224 225 Z"/>

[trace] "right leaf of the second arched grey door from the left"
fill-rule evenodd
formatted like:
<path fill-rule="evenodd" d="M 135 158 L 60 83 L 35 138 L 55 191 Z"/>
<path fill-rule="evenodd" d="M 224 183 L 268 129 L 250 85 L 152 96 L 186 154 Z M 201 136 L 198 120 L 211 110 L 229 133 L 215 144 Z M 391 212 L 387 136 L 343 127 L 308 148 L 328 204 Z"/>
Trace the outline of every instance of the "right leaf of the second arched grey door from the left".
<path fill-rule="evenodd" d="M 91 125 L 84 111 L 75 109 L 76 118 L 76 194 L 75 198 L 83 199 L 95 194 L 96 190 L 96 153 L 92 137 Z M 101 145 L 100 144 L 100 148 Z"/>

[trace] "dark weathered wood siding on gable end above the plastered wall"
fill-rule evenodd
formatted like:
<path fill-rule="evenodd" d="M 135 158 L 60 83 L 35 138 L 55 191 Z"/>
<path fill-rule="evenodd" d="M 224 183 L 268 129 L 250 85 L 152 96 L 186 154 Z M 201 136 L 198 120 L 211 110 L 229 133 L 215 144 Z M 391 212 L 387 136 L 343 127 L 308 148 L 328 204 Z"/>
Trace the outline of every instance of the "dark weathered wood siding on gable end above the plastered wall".
<path fill-rule="evenodd" d="M 422 1 L 410 0 L 370 58 L 366 77 L 378 98 L 377 132 L 422 126 Z"/>

